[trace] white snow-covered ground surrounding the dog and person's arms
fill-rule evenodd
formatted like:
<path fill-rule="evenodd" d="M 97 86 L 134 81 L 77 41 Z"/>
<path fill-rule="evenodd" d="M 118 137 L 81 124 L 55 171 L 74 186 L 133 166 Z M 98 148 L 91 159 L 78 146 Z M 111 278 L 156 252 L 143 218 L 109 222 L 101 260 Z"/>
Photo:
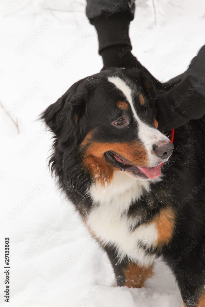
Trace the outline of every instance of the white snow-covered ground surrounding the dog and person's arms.
<path fill-rule="evenodd" d="M 155 0 L 156 25 L 152 0 L 136 4 L 133 53 L 159 80 L 180 74 L 204 44 L 204 0 Z M 38 115 L 102 67 L 85 1 L 1 0 L 0 15 L 0 307 L 7 237 L 10 307 L 181 307 L 160 262 L 146 288 L 116 287 L 107 255 L 47 169 L 51 135 Z"/>

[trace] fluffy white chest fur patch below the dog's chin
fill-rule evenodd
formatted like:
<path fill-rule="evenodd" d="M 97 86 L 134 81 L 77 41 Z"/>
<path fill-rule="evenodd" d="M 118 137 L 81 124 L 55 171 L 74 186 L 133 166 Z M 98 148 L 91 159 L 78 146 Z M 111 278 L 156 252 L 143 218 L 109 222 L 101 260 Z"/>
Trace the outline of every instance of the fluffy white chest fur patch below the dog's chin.
<path fill-rule="evenodd" d="M 92 184 L 89 192 L 96 206 L 87 223 L 102 243 L 117 248 L 120 260 L 127 255 L 132 261 L 147 266 L 153 262 L 153 257 L 145 255 L 139 243 L 150 247 L 157 239 L 156 228 L 154 225 L 141 225 L 131 232 L 140 216 L 127 216 L 130 204 L 140 198 L 144 189 L 149 191 L 150 180 L 139 180 L 122 171 L 115 171 L 112 181 L 105 187 Z"/>

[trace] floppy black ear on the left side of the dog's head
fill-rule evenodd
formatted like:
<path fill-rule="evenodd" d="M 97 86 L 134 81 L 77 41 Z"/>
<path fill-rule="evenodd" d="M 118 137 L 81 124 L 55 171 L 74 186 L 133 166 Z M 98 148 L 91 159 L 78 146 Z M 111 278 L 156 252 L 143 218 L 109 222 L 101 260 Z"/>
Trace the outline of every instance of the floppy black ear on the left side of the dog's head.
<path fill-rule="evenodd" d="M 83 139 L 87 127 L 86 106 L 91 86 L 80 80 L 41 115 L 55 134 L 61 151 L 71 151 Z"/>

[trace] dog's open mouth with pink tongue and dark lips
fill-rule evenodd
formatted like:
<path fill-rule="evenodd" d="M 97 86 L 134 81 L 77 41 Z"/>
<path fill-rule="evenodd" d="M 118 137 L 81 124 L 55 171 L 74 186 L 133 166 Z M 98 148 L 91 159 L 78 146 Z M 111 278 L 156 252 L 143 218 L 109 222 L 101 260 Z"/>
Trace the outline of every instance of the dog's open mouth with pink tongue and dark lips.
<path fill-rule="evenodd" d="M 155 179 L 161 174 L 160 165 L 157 165 L 155 167 L 136 166 L 124 160 L 112 151 L 106 151 L 105 156 L 112 162 L 115 167 L 119 168 L 121 171 L 132 172 L 132 174 L 137 177 L 141 177 L 144 179 Z"/>

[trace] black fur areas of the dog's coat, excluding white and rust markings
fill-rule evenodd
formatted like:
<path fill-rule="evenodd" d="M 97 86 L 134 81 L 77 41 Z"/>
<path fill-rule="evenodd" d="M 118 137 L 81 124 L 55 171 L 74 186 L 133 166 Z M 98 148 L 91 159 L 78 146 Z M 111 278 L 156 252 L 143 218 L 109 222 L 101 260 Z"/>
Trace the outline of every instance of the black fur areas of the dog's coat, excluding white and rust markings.
<path fill-rule="evenodd" d="M 53 154 L 50 158 L 51 170 L 58 185 L 73 202 L 81 216 L 86 218 L 91 210 L 92 200 L 87 193 L 92 183 L 89 173 L 82 169 L 82 155 L 79 146 L 86 134 L 96 128 L 94 138 L 99 142 L 118 139 L 108 122 L 114 120 L 115 103 L 124 97 L 109 84 L 107 76 L 120 76 L 143 93 L 148 101 L 148 115 L 137 110 L 148 125 L 156 114 L 155 99 L 158 91 L 169 86 L 155 82 L 154 78 L 140 70 L 112 69 L 87 77 L 73 84 L 69 90 L 49 106 L 42 119 L 53 131 Z M 144 82 L 151 87 L 146 89 Z M 178 81 L 175 80 L 175 83 Z M 194 102 L 193 102 L 194 103 Z M 77 123 L 75 117 L 77 116 Z M 110 118 L 109 118 L 110 116 Z M 117 132 L 118 133 L 118 132 Z M 129 134 L 120 132 L 120 140 L 132 140 Z M 163 181 L 152 184 L 150 193 L 132 203 L 128 214 L 140 215 L 140 222 L 151 220 L 161 208 L 171 206 L 176 212 L 176 228 L 173 238 L 163 249 L 149 249 L 146 252 L 161 256 L 170 266 L 183 301 L 187 307 L 196 307 L 204 295 L 205 284 L 205 117 L 192 120 L 175 130 L 174 150 L 167 164 L 162 166 Z M 119 141 L 119 139 L 118 139 Z M 132 229 L 134 230 L 134 229 Z M 193 243 L 195 242 L 195 243 Z M 104 247 L 112 262 L 119 286 L 124 285 L 122 268 L 129 259 L 117 264 L 114 247 Z M 188 250 L 187 250 L 188 249 Z M 116 265 L 117 264 L 117 265 Z"/>

